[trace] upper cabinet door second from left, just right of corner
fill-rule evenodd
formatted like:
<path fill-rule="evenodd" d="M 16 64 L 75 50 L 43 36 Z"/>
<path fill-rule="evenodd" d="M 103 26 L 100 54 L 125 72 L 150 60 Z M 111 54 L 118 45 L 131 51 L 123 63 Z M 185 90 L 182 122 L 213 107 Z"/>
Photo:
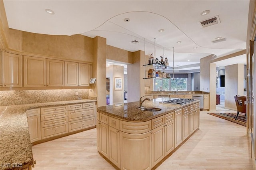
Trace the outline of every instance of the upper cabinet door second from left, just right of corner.
<path fill-rule="evenodd" d="M 24 87 L 46 86 L 46 59 L 24 56 Z"/>

